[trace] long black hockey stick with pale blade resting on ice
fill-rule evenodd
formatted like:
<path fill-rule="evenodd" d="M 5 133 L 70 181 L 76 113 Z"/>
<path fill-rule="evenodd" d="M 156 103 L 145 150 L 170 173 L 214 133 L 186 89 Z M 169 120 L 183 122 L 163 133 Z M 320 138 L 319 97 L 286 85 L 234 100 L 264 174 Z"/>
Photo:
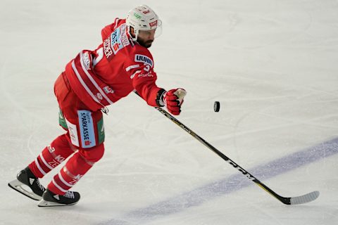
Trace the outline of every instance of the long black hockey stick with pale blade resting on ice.
<path fill-rule="evenodd" d="M 137 92 L 135 92 L 135 93 L 137 94 Z M 313 191 L 311 193 L 307 193 L 305 195 L 296 196 L 296 197 L 282 197 L 281 195 L 278 195 L 277 193 L 275 193 L 275 191 L 271 190 L 270 188 L 268 188 L 268 186 L 266 186 L 261 181 L 259 181 L 255 176 L 253 176 L 252 174 L 250 174 L 249 172 L 247 172 L 245 169 L 243 169 L 242 167 L 240 167 L 236 162 L 230 160 L 230 158 L 228 158 L 226 155 L 224 155 L 223 153 L 221 153 L 215 147 L 211 146 L 210 143 L 208 143 L 207 141 L 205 141 L 204 139 L 202 139 L 201 136 L 197 135 L 194 131 L 192 131 L 187 126 L 185 126 L 184 124 L 182 124 L 182 122 L 180 122 L 175 117 L 173 117 L 172 115 L 170 115 L 170 113 L 168 113 L 167 111 L 165 111 L 165 110 L 163 110 L 162 108 L 159 108 L 159 107 L 154 107 L 154 108 L 156 110 L 158 110 L 160 113 L 162 113 L 163 115 L 165 115 L 165 117 L 167 117 L 169 120 L 171 120 L 175 124 L 177 124 L 178 127 L 181 127 L 182 129 L 184 129 L 184 131 L 187 131 L 188 134 L 190 134 L 195 139 L 197 139 L 197 141 L 199 141 L 202 144 L 204 144 L 204 146 L 206 146 L 207 148 L 209 148 L 210 150 L 212 150 L 214 153 L 216 153 L 218 156 L 220 156 L 220 158 L 223 158 L 223 160 L 225 160 L 230 165 L 232 165 L 232 167 L 234 167 L 239 172 L 241 172 L 249 180 L 253 181 L 255 184 L 257 184 L 258 186 L 260 186 L 261 188 L 263 188 L 264 191 L 270 193 L 270 195 L 273 195 L 273 197 L 277 198 L 277 200 L 280 200 L 280 202 L 284 203 L 285 205 L 299 205 L 299 204 L 311 202 L 311 201 L 315 200 L 316 198 L 318 198 L 319 191 Z"/>

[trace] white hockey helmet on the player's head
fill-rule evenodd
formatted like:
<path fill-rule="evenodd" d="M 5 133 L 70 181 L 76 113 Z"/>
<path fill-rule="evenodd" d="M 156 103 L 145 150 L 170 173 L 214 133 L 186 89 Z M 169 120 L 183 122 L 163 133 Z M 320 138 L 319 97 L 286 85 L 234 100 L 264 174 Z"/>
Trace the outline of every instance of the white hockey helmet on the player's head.
<path fill-rule="evenodd" d="M 137 40 L 137 35 L 140 30 L 155 30 L 155 37 L 158 37 L 162 33 L 162 21 L 158 18 L 158 15 L 149 6 L 142 5 L 133 8 L 128 12 L 126 18 L 127 26 L 134 28 L 135 37 L 132 38 L 134 41 Z"/>

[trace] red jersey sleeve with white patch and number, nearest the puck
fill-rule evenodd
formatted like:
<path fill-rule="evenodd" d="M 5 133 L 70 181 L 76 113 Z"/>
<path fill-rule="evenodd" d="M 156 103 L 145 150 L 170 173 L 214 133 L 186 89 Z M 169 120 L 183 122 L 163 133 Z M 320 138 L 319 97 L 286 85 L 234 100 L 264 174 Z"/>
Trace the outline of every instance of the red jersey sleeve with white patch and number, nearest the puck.
<path fill-rule="evenodd" d="M 156 85 L 157 75 L 154 72 L 154 60 L 148 49 L 141 49 L 130 54 L 129 60 L 125 63 L 125 70 L 132 86 L 148 105 L 159 106 L 156 103 L 160 87 Z"/>

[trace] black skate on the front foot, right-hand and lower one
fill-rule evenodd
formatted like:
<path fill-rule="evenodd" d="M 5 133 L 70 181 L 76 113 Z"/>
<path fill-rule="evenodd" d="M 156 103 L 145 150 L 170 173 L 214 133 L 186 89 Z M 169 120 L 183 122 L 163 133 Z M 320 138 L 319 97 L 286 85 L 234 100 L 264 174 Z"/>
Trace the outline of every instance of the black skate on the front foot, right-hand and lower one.
<path fill-rule="evenodd" d="M 80 200 L 80 193 L 76 191 L 67 191 L 64 195 L 54 194 L 46 189 L 42 195 L 42 200 L 37 206 L 51 207 L 63 205 L 75 205 Z"/>

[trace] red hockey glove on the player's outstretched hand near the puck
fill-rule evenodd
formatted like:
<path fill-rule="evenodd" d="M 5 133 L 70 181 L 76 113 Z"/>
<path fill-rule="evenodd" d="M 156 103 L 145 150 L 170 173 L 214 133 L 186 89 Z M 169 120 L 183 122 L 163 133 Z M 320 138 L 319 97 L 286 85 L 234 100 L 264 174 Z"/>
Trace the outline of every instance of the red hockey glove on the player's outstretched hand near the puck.
<path fill-rule="evenodd" d="M 163 94 L 163 103 L 169 113 L 180 115 L 183 98 L 187 94 L 184 89 L 171 89 Z"/>

